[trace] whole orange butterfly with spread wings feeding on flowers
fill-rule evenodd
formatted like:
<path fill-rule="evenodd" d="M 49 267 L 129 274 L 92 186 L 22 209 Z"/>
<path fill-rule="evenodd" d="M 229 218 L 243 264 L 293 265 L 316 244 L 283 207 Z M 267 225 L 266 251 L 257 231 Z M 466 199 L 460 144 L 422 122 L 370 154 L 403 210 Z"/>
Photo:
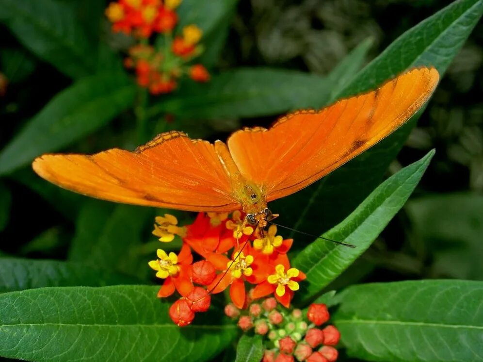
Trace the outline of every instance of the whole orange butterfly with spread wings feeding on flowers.
<path fill-rule="evenodd" d="M 196 212 L 242 210 L 252 225 L 275 215 L 267 202 L 297 192 L 394 132 L 418 111 L 439 80 L 412 69 L 371 91 L 245 128 L 226 144 L 164 132 L 130 152 L 47 154 L 33 162 L 44 179 L 68 190 L 129 204 Z"/>

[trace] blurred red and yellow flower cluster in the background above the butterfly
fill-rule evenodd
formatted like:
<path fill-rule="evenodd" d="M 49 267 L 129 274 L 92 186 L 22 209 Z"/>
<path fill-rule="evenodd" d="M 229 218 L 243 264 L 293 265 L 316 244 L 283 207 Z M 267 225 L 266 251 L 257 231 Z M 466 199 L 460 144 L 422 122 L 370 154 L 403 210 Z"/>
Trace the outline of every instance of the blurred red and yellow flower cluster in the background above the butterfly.
<path fill-rule="evenodd" d="M 129 49 L 124 65 L 134 69 L 141 87 L 153 95 L 170 93 L 178 79 L 188 75 L 195 82 L 208 82 L 208 70 L 201 64 L 191 64 L 203 52 L 199 41 L 203 35 L 196 25 L 188 25 L 174 36 L 178 22 L 176 8 L 181 0 L 118 0 L 111 2 L 106 16 L 114 32 L 132 34 L 140 42 Z M 149 37 L 162 33 L 161 44 L 153 47 Z"/>

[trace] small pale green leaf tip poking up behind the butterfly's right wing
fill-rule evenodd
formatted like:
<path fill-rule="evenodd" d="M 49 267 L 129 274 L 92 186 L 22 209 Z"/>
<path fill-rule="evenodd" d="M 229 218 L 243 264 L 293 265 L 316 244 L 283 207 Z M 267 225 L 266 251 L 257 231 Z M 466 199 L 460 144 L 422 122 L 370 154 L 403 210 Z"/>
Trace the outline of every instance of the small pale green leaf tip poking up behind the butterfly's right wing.
<path fill-rule="evenodd" d="M 354 76 L 362 67 L 371 45 L 372 38 L 362 41 L 327 75 L 327 81 L 334 84 L 326 101 L 327 103 L 332 103 L 336 100 L 341 91 L 354 79 Z"/>

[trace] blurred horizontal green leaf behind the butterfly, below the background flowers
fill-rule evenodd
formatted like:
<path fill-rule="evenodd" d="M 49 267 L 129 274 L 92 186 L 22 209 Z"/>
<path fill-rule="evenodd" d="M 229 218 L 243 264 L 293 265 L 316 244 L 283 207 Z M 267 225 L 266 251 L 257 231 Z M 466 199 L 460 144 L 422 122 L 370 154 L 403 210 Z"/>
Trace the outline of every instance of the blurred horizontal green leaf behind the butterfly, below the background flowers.
<path fill-rule="evenodd" d="M 185 84 L 187 86 L 187 84 Z M 191 83 L 148 110 L 149 116 L 171 113 L 181 118 L 223 119 L 273 115 L 325 101 L 329 84 L 317 75 L 270 68 L 242 68 Z"/>

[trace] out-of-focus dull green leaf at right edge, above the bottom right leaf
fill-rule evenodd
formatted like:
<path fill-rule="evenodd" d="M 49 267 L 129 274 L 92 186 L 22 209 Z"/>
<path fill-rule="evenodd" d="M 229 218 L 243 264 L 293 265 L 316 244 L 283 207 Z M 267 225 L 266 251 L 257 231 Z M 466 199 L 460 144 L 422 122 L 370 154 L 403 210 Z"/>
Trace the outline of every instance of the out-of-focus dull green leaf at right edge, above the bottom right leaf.
<path fill-rule="evenodd" d="M 431 250 L 437 276 L 483 280 L 483 196 L 457 193 L 419 197 L 405 209 L 414 235 Z"/>

